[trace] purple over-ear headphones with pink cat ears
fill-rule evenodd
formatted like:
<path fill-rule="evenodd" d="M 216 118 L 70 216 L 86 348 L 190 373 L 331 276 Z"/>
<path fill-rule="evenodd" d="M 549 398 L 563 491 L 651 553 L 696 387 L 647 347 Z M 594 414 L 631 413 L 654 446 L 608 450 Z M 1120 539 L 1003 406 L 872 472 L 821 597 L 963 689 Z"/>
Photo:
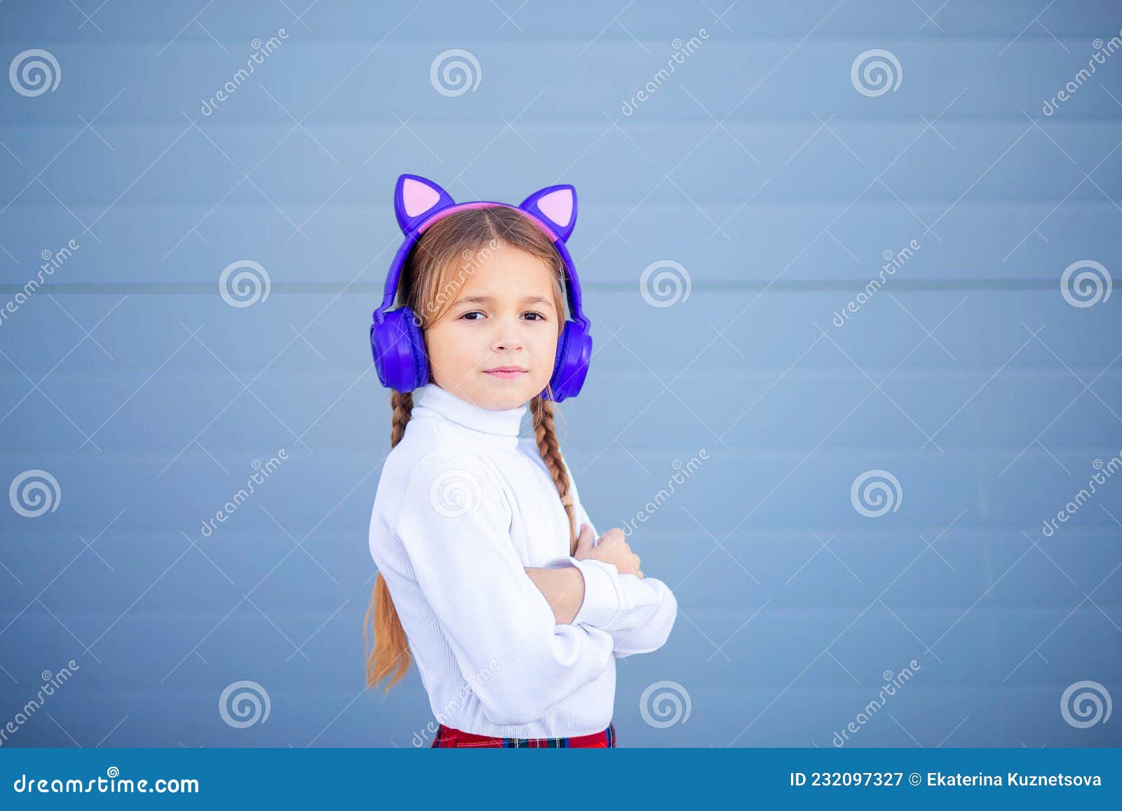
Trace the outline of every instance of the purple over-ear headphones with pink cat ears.
<path fill-rule="evenodd" d="M 580 280 L 564 245 L 577 222 L 577 190 L 570 185 L 546 186 L 531 194 L 518 206 L 489 201 L 457 203 L 443 188 L 419 175 L 402 175 L 397 178 L 394 212 L 405 233 L 405 241 L 389 266 L 386 291 L 381 304 L 374 311 L 374 323 L 370 325 L 374 368 L 378 372 L 379 383 L 386 388 L 405 393 L 429 383 L 429 356 L 417 325 L 419 319 L 408 307 L 389 310 L 397 295 L 398 278 L 410 250 L 425 229 L 438 220 L 457 211 L 491 205 L 515 209 L 527 215 L 550 238 L 564 261 L 568 277 L 565 292 L 573 320 L 565 321 L 558 339 L 553 376 L 541 396 L 551 399 L 549 391 L 552 389 L 552 399 L 560 402 L 580 393 L 592 356 L 592 339 L 588 334 L 590 322 L 580 306 Z"/>

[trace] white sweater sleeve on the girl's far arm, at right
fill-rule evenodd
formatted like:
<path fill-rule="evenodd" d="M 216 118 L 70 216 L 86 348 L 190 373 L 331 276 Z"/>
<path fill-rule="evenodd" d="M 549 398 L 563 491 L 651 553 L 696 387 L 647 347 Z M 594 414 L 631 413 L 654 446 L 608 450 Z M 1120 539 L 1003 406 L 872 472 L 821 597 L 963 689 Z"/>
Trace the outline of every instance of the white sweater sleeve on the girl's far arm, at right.
<path fill-rule="evenodd" d="M 568 467 L 568 466 L 567 466 Z M 577 524 L 588 524 L 599 534 L 580 500 L 572 471 L 569 483 L 577 507 Z M 620 574 L 610 563 L 596 560 L 569 562 L 585 578 L 585 600 L 572 625 L 607 630 L 613 637 L 616 657 L 657 651 L 666 642 L 678 617 L 678 600 L 663 581 L 651 577 Z"/>

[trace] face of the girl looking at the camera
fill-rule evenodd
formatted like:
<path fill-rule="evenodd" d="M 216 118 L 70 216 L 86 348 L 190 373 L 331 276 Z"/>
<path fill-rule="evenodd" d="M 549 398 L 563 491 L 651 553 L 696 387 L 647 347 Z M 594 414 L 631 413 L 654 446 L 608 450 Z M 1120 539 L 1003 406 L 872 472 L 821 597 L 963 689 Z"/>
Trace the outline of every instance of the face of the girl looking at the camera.
<path fill-rule="evenodd" d="M 433 381 L 490 411 L 524 405 L 553 375 L 558 322 L 553 273 L 506 243 L 489 252 L 424 331 Z"/>

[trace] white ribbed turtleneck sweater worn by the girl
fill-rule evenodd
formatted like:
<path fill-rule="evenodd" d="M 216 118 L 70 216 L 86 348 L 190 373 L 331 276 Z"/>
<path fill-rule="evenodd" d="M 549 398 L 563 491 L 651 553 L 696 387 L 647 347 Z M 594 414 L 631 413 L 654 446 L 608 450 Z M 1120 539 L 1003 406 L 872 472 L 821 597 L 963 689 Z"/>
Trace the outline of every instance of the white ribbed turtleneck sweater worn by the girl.
<path fill-rule="evenodd" d="M 611 721 L 616 657 L 661 647 L 678 602 L 661 580 L 569 554 L 557 486 L 534 437 L 519 436 L 527 411 L 432 383 L 414 391 L 378 480 L 370 554 L 436 720 L 496 737 L 589 735 Z M 579 529 L 592 522 L 569 477 Z M 523 570 L 548 565 L 583 575 L 570 624 Z"/>

